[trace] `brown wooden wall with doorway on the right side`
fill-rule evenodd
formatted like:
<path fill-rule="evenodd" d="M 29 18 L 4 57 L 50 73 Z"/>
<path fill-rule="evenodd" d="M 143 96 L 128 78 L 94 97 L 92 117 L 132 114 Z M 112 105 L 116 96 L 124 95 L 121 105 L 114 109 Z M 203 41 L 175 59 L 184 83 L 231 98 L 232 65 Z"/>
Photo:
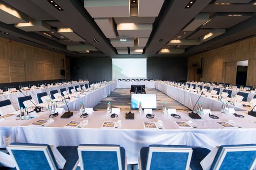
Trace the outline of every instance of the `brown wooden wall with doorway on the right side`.
<path fill-rule="evenodd" d="M 252 74 L 256 72 L 256 67 L 254 67 L 256 66 L 256 37 L 188 57 L 188 68 L 192 67 L 193 63 L 200 64 L 201 58 L 203 59 L 201 81 L 228 81 L 228 83 L 234 85 L 236 83 L 236 75 L 234 75 L 236 70 L 234 71 L 233 62 L 249 60 L 247 85 L 256 85 L 256 76 Z M 226 68 L 226 66 L 228 68 Z M 188 80 L 190 80 L 193 75 L 194 72 L 192 69 L 188 69 Z"/>

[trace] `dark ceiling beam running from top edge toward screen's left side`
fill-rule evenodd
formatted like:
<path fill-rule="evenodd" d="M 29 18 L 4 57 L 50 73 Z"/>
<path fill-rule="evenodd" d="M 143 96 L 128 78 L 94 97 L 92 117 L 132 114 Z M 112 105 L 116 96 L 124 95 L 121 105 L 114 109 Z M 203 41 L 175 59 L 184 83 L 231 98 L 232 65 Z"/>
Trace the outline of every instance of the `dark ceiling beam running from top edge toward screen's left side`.
<path fill-rule="evenodd" d="M 116 55 L 116 50 L 98 28 L 80 0 L 55 0 L 64 11 L 58 11 L 47 0 L 32 1 L 106 55 Z M 97 39 L 98 42 L 93 39 Z"/>

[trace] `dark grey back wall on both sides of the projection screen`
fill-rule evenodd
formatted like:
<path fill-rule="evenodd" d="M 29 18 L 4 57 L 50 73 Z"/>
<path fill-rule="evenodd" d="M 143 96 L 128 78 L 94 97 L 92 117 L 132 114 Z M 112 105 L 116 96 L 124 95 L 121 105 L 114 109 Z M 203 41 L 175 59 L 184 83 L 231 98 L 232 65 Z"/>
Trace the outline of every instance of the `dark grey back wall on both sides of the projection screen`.
<path fill-rule="evenodd" d="M 147 78 L 159 80 L 187 80 L 187 58 L 149 57 Z M 71 80 L 90 82 L 112 80 L 112 59 L 103 57 L 70 58 Z"/>

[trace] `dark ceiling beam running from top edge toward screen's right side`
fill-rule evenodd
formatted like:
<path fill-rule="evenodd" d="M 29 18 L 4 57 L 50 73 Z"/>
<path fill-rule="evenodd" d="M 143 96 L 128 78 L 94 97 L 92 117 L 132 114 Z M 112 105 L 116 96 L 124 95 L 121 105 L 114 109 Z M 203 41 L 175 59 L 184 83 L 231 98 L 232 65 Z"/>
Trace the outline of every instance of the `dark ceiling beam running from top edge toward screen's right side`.
<path fill-rule="evenodd" d="M 212 0 L 197 0 L 191 8 L 185 8 L 189 0 L 167 0 L 158 24 L 146 46 L 145 54 L 154 55 L 193 19 Z M 159 42 L 159 39 L 163 41 Z M 151 51 L 151 52 L 150 52 Z"/>

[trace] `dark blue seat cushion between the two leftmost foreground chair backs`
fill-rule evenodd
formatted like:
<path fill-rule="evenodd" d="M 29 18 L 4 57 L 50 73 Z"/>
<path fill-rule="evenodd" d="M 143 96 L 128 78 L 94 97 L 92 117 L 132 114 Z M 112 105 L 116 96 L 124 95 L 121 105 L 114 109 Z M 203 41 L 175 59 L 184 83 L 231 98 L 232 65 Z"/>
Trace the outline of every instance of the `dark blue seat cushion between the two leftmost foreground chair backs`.
<path fill-rule="evenodd" d="M 58 146 L 59 153 L 66 160 L 63 170 L 72 170 L 76 165 L 78 157 L 78 147 L 77 146 Z"/>

